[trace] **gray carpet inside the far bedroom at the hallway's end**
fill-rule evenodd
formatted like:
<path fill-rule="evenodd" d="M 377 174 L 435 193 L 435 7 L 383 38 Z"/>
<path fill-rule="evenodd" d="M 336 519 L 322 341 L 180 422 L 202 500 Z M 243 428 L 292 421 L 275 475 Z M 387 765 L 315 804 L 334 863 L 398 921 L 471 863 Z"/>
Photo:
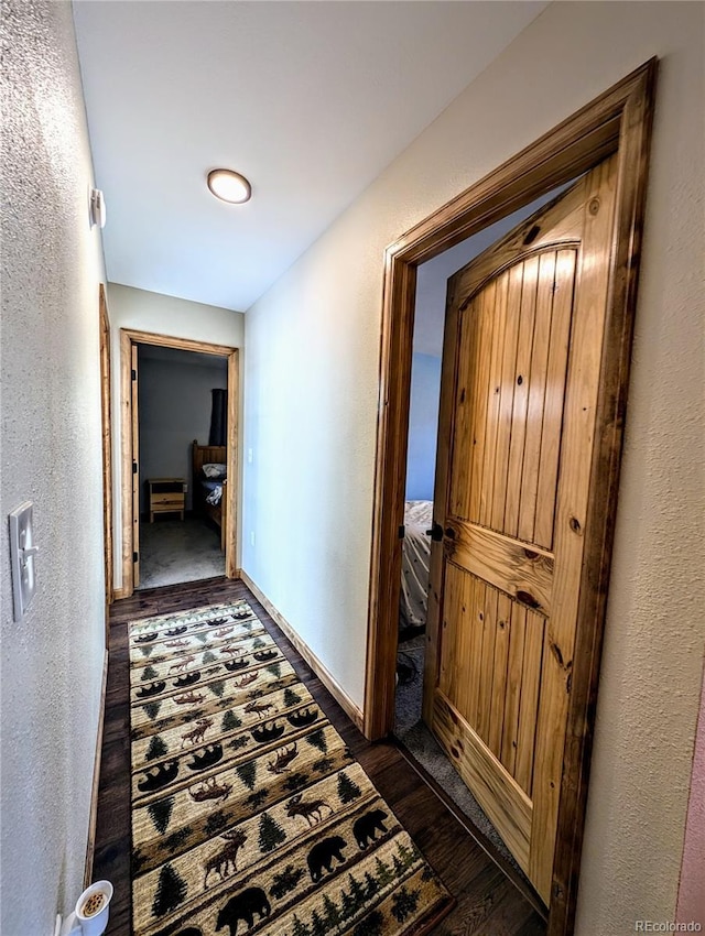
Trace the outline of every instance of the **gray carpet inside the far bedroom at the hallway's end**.
<path fill-rule="evenodd" d="M 156 588 L 225 575 L 220 531 L 199 516 L 140 524 L 140 585 Z"/>

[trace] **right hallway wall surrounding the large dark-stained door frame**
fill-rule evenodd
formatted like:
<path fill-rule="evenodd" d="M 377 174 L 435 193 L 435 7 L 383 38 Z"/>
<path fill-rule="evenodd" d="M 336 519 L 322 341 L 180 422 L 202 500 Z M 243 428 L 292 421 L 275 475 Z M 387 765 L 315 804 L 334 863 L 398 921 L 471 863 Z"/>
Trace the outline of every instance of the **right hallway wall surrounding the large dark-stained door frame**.
<path fill-rule="evenodd" d="M 552 4 L 246 320 L 242 565 L 361 705 L 383 249 L 662 57 L 578 936 L 675 913 L 705 643 L 703 13 Z"/>

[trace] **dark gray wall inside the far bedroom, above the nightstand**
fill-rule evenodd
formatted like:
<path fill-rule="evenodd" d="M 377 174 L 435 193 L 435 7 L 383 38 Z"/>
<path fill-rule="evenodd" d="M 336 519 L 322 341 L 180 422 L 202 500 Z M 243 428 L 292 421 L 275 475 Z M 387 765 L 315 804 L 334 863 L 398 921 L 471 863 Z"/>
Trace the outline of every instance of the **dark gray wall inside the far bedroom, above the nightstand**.
<path fill-rule="evenodd" d="M 141 347 L 144 347 L 143 345 Z M 184 478 L 186 510 L 193 507 L 192 444 L 208 444 L 212 390 L 228 385 L 225 358 L 210 366 L 185 360 L 163 361 L 140 356 L 140 493 L 149 512 L 148 478 Z M 193 357 L 193 355 L 191 356 Z M 217 361 L 219 360 L 219 363 Z"/>

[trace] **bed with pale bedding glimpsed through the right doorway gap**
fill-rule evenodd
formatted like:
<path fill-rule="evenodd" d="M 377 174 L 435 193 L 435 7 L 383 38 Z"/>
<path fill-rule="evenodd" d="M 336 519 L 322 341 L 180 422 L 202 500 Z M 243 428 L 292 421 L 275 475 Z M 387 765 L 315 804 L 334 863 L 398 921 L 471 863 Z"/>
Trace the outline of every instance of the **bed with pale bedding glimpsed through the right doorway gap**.
<path fill-rule="evenodd" d="M 432 501 L 406 501 L 401 558 L 400 628 L 425 627 L 429 610 Z"/>

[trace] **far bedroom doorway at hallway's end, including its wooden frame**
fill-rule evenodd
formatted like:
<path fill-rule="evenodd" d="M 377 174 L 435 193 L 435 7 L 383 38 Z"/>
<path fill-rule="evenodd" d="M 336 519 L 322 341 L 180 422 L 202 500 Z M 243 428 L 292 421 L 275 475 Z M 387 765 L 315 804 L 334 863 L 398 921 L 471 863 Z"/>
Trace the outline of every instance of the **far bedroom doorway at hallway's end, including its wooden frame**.
<path fill-rule="evenodd" d="M 120 351 L 121 595 L 235 578 L 238 350 L 121 329 Z"/>

